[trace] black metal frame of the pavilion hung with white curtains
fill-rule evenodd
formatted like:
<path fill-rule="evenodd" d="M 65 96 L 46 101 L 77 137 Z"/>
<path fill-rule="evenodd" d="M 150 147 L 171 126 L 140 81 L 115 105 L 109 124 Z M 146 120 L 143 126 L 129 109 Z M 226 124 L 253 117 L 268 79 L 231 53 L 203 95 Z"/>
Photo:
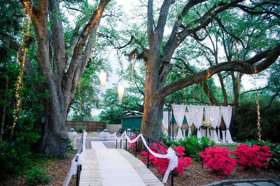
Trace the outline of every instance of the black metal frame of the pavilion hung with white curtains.
<path fill-rule="evenodd" d="M 171 141 L 171 121 L 170 121 L 170 117 L 173 116 L 173 109 L 171 104 L 177 103 L 177 104 L 182 104 L 182 105 L 187 105 L 187 104 L 202 104 L 202 105 L 221 105 L 221 106 L 228 106 L 228 105 L 237 105 L 237 103 L 206 103 L 206 102 L 185 102 L 185 101 L 166 101 L 166 105 L 168 107 L 168 141 Z M 172 115 L 171 115 L 172 112 Z M 231 128 L 232 128 L 232 137 L 235 136 L 234 133 L 234 118 L 232 115 L 232 119 L 231 119 Z M 174 117 L 172 117 L 172 141 L 174 141 Z"/>

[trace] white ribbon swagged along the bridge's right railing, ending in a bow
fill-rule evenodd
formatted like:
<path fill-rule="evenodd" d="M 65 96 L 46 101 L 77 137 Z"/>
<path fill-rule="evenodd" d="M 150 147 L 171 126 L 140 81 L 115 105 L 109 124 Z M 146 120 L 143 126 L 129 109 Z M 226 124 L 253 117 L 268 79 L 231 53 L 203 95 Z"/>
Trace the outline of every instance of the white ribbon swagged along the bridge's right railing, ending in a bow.
<path fill-rule="evenodd" d="M 162 180 L 162 183 L 166 183 L 170 172 L 173 171 L 176 167 L 178 167 L 178 157 L 176 156 L 175 151 L 171 147 L 169 147 L 169 149 L 167 150 L 167 154 L 165 154 L 165 155 L 155 153 L 147 145 L 147 142 L 144 139 L 142 134 L 139 134 L 136 138 L 134 138 L 133 140 L 130 140 L 130 138 L 127 136 L 126 131 L 124 131 L 124 133 L 122 133 L 121 137 L 117 137 L 117 134 L 114 133 L 115 144 L 116 144 L 116 141 L 120 142 L 120 140 L 123 139 L 124 135 L 129 143 L 135 143 L 139 139 L 139 137 L 141 137 L 143 144 L 146 146 L 146 148 L 152 155 L 154 155 L 156 158 L 168 158 L 169 159 L 169 164 L 168 164 L 167 170 L 166 170 L 163 180 Z"/>

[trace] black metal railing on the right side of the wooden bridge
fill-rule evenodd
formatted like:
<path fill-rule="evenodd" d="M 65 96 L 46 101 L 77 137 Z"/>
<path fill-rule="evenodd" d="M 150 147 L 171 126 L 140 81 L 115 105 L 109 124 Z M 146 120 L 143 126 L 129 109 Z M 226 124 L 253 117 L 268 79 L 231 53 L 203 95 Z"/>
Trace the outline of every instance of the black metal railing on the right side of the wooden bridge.
<path fill-rule="evenodd" d="M 124 133 L 125 130 L 120 131 L 117 133 L 117 137 L 121 136 L 122 133 Z M 141 133 L 138 132 L 134 132 L 134 131 L 127 131 L 127 137 L 131 137 L 131 138 L 136 138 L 138 135 L 140 135 Z M 162 144 L 161 142 L 142 134 L 142 136 L 144 137 L 144 139 L 146 140 L 146 143 L 148 146 L 152 147 L 153 149 L 155 149 L 157 152 L 161 153 L 162 155 L 167 154 L 167 149 L 168 147 L 165 146 L 164 144 Z M 141 138 L 139 138 L 138 140 L 141 140 Z M 137 141 L 138 141 L 137 140 Z M 137 156 L 137 141 L 135 142 L 135 157 Z M 123 143 L 123 139 L 120 139 L 120 148 L 122 148 L 122 143 Z M 160 147 L 164 148 L 164 151 L 160 150 Z M 116 149 L 117 149 L 117 139 L 116 139 Z M 125 150 L 127 150 L 127 139 L 125 140 Z M 176 153 L 176 156 L 180 157 L 179 154 Z M 147 168 L 149 168 L 149 151 L 147 149 Z M 170 182 L 171 182 L 171 186 L 173 186 L 173 171 L 170 172 Z"/>

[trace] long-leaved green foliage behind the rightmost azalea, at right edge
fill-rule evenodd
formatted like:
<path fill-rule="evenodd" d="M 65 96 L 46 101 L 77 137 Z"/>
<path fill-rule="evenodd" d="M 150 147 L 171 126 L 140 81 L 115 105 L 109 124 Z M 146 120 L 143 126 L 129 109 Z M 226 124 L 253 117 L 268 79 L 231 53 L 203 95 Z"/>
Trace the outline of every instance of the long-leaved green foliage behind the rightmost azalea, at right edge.
<path fill-rule="evenodd" d="M 258 145 L 260 147 L 262 146 L 268 146 L 270 148 L 269 153 L 272 154 L 272 160 L 267 158 L 267 161 L 269 162 L 269 168 L 280 168 L 280 144 L 272 143 L 271 140 L 246 140 L 244 142 L 248 147 L 251 147 L 253 145 Z"/>

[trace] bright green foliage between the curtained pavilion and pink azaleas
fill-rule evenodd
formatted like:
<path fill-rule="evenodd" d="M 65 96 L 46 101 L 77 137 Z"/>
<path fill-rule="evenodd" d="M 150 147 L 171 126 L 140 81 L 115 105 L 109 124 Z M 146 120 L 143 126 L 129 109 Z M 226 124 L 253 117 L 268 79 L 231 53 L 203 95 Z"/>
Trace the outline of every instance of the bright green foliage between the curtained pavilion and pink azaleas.
<path fill-rule="evenodd" d="M 165 140 L 164 140 L 165 141 Z M 205 148 L 209 146 L 213 147 L 215 142 L 209 143 L 209 138 L 202 136 L 201 138 L 197 138 L 196 136 L 186 137 L 185 139 L 180 139 L 178 142 L 165 142 L 166 146 L 182 146 L 185 148 L 183 152 L 185 156 L 190 158 L 199 158 L 199 153 L 203 152 Z"/>

